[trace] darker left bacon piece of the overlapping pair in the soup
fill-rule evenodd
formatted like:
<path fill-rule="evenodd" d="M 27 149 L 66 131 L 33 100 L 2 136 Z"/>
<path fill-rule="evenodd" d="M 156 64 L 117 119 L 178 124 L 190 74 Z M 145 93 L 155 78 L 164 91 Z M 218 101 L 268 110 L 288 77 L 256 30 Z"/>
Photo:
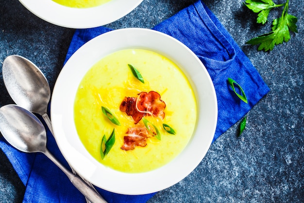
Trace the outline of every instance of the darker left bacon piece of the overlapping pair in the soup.
<path fill-rule="evenodd" d="M 119 110 L 132 116 L 135 124 L 145 115 L 145 113 L 137 111 L 135 97 L 125 97 L 120 104 Z"/>

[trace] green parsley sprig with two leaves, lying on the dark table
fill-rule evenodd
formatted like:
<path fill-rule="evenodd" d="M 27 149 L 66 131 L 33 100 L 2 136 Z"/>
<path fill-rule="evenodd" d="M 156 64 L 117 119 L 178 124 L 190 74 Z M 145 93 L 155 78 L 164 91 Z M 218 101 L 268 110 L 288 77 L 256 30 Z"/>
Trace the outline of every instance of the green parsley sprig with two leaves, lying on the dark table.
<path fill-rule="evenodd" d="M 290 31 L 298 33 L 296 22 L 298 18 L 287 13 L 289 0 L 284 4 L 275 4 L 272 0 L 246 0 L 245 5 L 255 13 L 259 13 L 257 22 L 264 24 L 272 8 L 284 6 L 282 16 L 272 21 L 272 31 L 247 41 L 247 44 L 257 45 L 258 51 L 271 51 L 275 45 L 288 42 Z"/>

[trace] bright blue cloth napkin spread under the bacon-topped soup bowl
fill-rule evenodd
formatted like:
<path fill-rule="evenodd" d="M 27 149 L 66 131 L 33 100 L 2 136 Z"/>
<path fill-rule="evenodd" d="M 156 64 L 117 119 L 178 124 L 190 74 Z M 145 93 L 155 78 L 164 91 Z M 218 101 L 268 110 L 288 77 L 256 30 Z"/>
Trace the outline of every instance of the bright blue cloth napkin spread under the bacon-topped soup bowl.
<path fill-rule="evenodd" d="M 217 94 L 219 112 L 213 141 L 270 91 L 251 61 L 201 0 L 152 29 L 183 42 L 202 60 L 210 74 Z M 85 42 L 110 31 L 106 27 L 76 30 L 66 61 Z M 232 92 L 227 83 L 228 77 L 241 85 L 246 92 L 248 104 Z M 68 167 L 49 131 L 47 147 Z M 84 196 L 43 154 L 20 152 L 8 145 L 2 137 L 0 148 L 26 186 L 23 203 L 85 203 Z M 97 189 L 109 203 L 146 203 L 155 194 L 130 196 Z"/>

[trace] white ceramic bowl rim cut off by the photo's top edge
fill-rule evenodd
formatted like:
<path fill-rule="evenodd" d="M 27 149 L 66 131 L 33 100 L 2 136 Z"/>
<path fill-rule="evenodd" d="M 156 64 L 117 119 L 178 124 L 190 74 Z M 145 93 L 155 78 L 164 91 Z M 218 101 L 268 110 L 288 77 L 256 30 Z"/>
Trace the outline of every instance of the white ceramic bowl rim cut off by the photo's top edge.
<path fill-rule="evenodd" d="M 111 0 L 92 8 L 71 8 L 52 0 L 19 0 L 29 11 L 52 24 L 68 28 L 92 28 L 124 17 L 142 0 Z"/>

